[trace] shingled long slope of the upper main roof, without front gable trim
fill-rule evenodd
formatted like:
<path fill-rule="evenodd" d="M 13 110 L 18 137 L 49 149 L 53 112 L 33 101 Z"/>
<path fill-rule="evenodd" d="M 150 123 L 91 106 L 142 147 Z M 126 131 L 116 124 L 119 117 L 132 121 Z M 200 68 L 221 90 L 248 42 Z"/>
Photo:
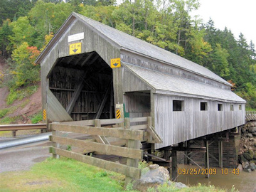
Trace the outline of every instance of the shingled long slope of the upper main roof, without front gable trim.
<path fill-rule="evenodd" d="M 87 18 L 80 14 L 73 13 L 74 16 L 77 16 L 81 19 L 81 21 L 89 24 L 92 28 L 102 33 L 102 35 L 109 38 L 121 49 L 129 50 L 132 52 L 139 53 L 139 55 L 144 55 L 149 58 L 153 58 L 155 60 L 162 61 L 169 65 L 174 65 L 178 68 L 182 68 L 184 70 L 191 71 L 192 73 L 199 74 L 206 78 L 210 78 L 216 80 L 218 82 L 222 82 L 226 85 L 230 85 L 229 82 L 223 80 L 218 75 L 213 73 L 212 71 L 204 68 L 202 65 L 198 65 L 197 63 L 192 62 L 191 60 L 187 60 L 186 58 L 182 58 L 174 53 L 171 53 L 168 50 L 164 50 L 163 48 L 159 48 L 158 46 L 154 46 L 151 43 L 147 43 L 146 41 L 142 41 L 139 38 L 135 38 L 134 36 L 130 36 L 127 33 L 119 31 L 115 28 L 107 26 L 103 23 L 92 20 L 91 18 Z"/>

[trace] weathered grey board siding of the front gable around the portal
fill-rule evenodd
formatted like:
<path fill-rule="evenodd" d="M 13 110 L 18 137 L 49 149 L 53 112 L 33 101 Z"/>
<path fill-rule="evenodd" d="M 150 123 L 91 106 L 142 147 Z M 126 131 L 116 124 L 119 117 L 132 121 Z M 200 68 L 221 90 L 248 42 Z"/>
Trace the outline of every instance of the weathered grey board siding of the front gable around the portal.
<path fill-rule="evenodd" d="M 46 109 L 47 92 L 48 92 L 48 79 L 47 76 L 56 63 L 56 60 L 61 57 L 69 55 L 69 45 L 72 43 L 82 42 L 82 53 L 96 51 L 105 62 L 110 65 L 111 58 L 119 58 L 120 52 L 114 43 L 107 41 L 104 36 L 100 36 L 97 31 L 93 30 L 92 27 L 86 25 L 82 21 L 75 19 L 73 23 L 64 29 L 60 29 L 58 33 L 63 33 L 58 41 L 51 44 L 50 51 L 46 54 L 41 62 L 41 85 L 42 85 L 42 102 L 43 109 Z M 85 33 L 85 38 L 80 41 L 73 41 L 68 43 L 68 36 L 76 33 Z M 113 70 L 114 79 L 114 102 L 122 103 L 122 70 Z M 65 119 L 65 118 L 64 118 Z"/>

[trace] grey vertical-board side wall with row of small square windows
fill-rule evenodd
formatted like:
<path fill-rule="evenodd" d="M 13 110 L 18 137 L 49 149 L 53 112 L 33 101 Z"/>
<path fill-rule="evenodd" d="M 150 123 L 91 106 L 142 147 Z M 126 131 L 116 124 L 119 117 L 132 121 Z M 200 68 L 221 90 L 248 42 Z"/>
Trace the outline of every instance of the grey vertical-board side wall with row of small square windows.
<path fill-rule="evenodd" d="M 174 112 L 173 100 L 183 100 L 184 110 Z M 230 103 L 188 97 L 154 95 L 154 102 L 155 129 L 164 141 L 156 144 L 156 149 L 245 124 L 245 104 L 234 103 L 230 111 Z M 208 103 L 208 110 L 201 111 L 201 102 Z M 223 111 L 218 111 L 218 103 Z"/>

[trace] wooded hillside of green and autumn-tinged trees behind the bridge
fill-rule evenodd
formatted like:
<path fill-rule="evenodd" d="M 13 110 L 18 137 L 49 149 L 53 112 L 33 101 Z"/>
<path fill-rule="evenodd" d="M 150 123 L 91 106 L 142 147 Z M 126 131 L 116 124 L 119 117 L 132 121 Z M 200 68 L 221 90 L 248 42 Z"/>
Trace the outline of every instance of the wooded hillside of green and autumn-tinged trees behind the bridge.
<path fill-rule="evenodd" d="M 0 55 L 6 63 L 0 88 L 8 89 L 0 119 L 12 103 L 36 92 L 40 66 L 34 61 L 73 11 L 203 65 L 233 84 L 247 110 L 256 109 L 254 42 L 191 16 L 199 6 L 200 0 L 0 0 Z"/>

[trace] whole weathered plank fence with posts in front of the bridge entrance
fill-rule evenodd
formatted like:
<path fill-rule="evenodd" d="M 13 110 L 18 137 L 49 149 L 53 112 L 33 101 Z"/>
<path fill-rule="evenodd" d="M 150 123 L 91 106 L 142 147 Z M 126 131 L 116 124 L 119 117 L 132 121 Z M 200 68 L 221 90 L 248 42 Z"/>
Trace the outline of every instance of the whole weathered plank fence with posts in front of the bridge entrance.
<path fill-rule="evenodd" d="M 50 124 L 50 129 L 53 131 L 53 135 L 50 137 L 53 142 L 53 147 L 50 147 L 50 153 L 53 154 L 54 158 L 57 158 L 58 155 L 66 156 L 102 169 L 124 174 L 126 176 L 126 184 L 134 178 L 140 178 L 141 170 L 138 169 L 138 164 L 139 159 L 143 158 L 143 151 L 140 149 L 141 142 L 161 142 L 160 137 L 152 130 L 151 117 L 53 122 Z M 90 134 L 97 142 L 60 137 L 58 132 Z M 119 141 L 117 142 L 117 139 L 111 141 L 110 137 L 119 138 Z M 60 149 L 60 144 L 82 148 L 83 153 Z M 92 151 L 97 152 L 97 154 L 126 157 L 127 164 L 118 164 L 84 155 L 85 152 Z"/>

